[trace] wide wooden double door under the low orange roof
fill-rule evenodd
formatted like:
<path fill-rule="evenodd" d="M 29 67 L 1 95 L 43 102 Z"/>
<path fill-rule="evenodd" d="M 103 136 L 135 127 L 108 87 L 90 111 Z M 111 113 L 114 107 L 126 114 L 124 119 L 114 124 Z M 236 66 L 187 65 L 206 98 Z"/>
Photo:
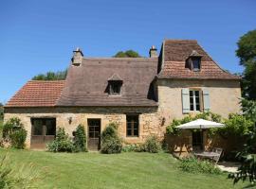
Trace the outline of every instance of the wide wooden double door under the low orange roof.
<path fill-rule="evenodd" d="M 31 119 L 31 148 L 46 148 L 56 135 L 56 118 Z"/>

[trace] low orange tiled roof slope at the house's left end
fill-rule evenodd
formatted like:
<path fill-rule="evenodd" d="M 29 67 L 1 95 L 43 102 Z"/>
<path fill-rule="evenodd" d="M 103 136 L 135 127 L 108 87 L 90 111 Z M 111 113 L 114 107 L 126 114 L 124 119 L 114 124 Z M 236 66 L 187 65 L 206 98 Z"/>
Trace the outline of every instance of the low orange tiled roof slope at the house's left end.
<path fill-rule="evenodd" d="M 30 80 L 5 107 L 53 107 L 62 94 L 64 83 L 64 80 Z"/>

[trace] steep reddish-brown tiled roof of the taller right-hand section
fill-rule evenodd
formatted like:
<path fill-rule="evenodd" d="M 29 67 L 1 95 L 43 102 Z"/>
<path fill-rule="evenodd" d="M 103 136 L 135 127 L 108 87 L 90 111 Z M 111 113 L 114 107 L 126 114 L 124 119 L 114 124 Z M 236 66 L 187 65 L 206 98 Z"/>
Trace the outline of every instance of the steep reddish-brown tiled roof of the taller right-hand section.
<path fill-rule="evenodd" d="M 202 56 L 199 72 L 185 68 L 186 60 L 193 51 Z M 231 75 L 220 68 L 194 40 L 166 40 L 163 43 L 162 66 L 162 70 L 158 74 L 160 78 L 240 79 L 240 77 Z"/>

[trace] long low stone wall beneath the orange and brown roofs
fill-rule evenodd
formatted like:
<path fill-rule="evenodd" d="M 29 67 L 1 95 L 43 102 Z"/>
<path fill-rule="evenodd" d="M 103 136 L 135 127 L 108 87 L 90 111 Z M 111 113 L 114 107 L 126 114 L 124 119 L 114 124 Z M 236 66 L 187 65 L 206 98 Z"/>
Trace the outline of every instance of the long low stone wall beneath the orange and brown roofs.
<path fill-rule="evenodd" d="M 82 124 L 87 130 L 87 119 L 101 119 L 101 130 L 109 123 L 119 125 L 119 135 L 126 143 L 142 143 L 149 135 L 155 134 L 163 138 L 165 129 L 161 126 L 161 116 L 157 108 L 26 108 L 6 109 L 5 121 L 11 117 L 19 117 L 27 129 L 27 147 L 30 146 L 31 118 L 55 117 L 57 128 L 64 128 L 72 136 L 72 132 Z M 126 114 L 139 113 L 139 137 L 126 136 Z M 69 123 L 70 117 L 72 122 Z M 88 131 L 87 131 L 88 133 Z"/>

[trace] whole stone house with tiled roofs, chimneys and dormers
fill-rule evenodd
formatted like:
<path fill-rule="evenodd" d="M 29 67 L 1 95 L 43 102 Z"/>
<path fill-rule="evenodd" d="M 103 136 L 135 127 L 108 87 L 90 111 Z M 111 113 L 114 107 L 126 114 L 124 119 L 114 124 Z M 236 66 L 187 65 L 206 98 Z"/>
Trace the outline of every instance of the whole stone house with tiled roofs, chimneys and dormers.
<path fill-rule="evenodd" d="M 111 122 L 125 143 L 141 143 L 153 134 L 163 138 L 174 118 L 191 112 L 240 112 L 240 78 L 220 68 L 196 41 L 165 40 L 159 56 L 154 46 L 149 54 L 86 58 L 78 48 L 66 79 L 28 81 L 5 106 L 5 121 L 22 120 L 27 147 L 45 146 L 59 127 L 72 136 L 82 124 L 93 150 Z"/>

